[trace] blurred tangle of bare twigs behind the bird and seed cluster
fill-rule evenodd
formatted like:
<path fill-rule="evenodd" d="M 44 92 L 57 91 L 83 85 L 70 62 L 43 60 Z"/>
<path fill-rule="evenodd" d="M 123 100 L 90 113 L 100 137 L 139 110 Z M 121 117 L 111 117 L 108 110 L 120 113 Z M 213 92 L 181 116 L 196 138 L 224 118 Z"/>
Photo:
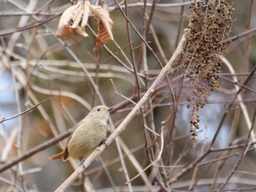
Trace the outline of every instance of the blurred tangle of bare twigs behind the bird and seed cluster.
<path fill-rule="evenodd" d="M 92 16 L 86 26 L 89 37 L 55 37 L 61 13 L 72 5 L 69 1 L 0 1 L 0 120 L 49 99 L 17 118 L 1 121 L 0 191 L 58 188 L 80 164 L 75 159 L 48 159 L 64 149 L 67 137 L 4 171 L 1 168 L 67 132 L 98 104 L 115 107 L 110 114 L 113 124 L 108 123 L 109 135 L 167 64 L 189 23 L 182 17 L 189 1 L 105 2 L 114 22 L 114 40 L 94 53 L 97 20 Z M 67 191 L 214 191 L 228 177 L 227 191 L 256 191 L 254 131 L 248 136 L 254 126 L 255 74 L 243 86 L 256 64 L 256 5 L 253 0 L 227 3 L 235 8 L 230 37 L 247 33 L 229 42 L 222 55 L 219 91 L 211 92 L 208 104 L 198 114 L 196 149 L 189 133 L 192 109 L 187 109 L 189 88 L 182 80 L 181 59 L 118 140 Z M 254 31 L 248 32 L 250 29 Z M 138 33 L 152 50 L 146 49 Z M 241 87 L 244 90 L 227 111 Z M 220 150 L 209 151 L 222 120 L 211 146 Z M 242 153 L 244 144 L 248 145 L 246 153 Z M 232 150 L 226 150 L 231 146 Z M 204 153 L 206 158 L 193 164 Z M 159 161 L 154 162 L 159 154 Z M 143 172 L 152 162 L 154 165 Z M 188 166 L 192 169 L 174 183 L 173 178 Z M 143 174 L 127 185 L 138 173 Z"/>

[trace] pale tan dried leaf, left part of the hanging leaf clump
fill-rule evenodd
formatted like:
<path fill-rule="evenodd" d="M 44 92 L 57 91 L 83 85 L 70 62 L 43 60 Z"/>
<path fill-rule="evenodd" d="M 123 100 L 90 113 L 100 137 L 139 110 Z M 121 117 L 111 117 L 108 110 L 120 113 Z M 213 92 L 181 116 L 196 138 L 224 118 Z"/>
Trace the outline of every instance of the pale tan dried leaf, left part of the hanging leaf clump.
<path fill-rule="evenodd" d="M 89 14 L 89 13 L 88 13 Z M 59 26 L 56 31 L 56 37 L 69 37 L 74 34 L 79 34 L 83 37 L 88 37 L 86 29 L 83 26 L 78 26 L 83 15 L 83 3 L 80 2 L 67 8 L 59 20 Z"/>

